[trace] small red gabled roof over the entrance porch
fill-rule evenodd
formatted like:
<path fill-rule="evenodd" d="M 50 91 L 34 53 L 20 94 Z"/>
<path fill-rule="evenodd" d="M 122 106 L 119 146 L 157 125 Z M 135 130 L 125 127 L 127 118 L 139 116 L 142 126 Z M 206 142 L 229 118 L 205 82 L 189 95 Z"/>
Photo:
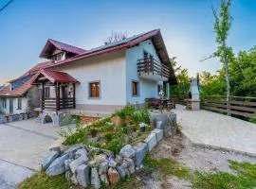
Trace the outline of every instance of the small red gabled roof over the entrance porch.
<path fill-rule="evenodd" d="M 79 81 L 71 77 L 70 75 L 64 73 L 64 72 L 58 72 L 58 71 L 53 71 L 53 70 L 48 70 L 48 69 L 42 69 L 40 72 L 36 74 L 35 77 L 33 77 L 32 81 L 30 83 L 32 84 L 37 77 L 40 75 L 43 75 L 47 79 L 49 79 L 52 83 L 55 82 L 71 82 L 71 83 L 78 83 Z"/>

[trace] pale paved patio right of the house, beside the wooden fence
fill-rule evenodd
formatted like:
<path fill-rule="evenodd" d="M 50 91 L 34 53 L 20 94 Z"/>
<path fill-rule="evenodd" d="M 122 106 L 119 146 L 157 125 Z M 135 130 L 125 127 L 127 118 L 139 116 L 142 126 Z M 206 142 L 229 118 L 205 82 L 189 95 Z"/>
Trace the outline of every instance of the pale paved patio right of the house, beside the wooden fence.
<path fill-rule="evenodd" d="M 215 112 L 187 111 L 181 105 L 174 112 L 192 143 L 256 156 L 256 124 Z"/>

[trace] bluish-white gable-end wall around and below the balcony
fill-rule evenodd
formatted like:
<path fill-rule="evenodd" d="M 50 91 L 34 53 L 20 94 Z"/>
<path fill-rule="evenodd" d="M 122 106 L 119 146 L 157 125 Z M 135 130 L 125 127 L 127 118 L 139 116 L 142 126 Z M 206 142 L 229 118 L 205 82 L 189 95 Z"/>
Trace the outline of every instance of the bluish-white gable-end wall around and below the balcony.
<path fill-rule="evenodd" d="M 159 60 L 155 47 L 151 40 L 139 43 L 137 46 L 126 50 L 126 96 L 127 103 L 142 104 L 145 98 L 157 97 L 157 82 L 154 80 L 143 79 L 137 76 L 137 60 L 143 59 L 143 52 L 147 51 L 154 56 L 155 60 Z M 132 95 L 132 81 L 137 80 L 139 82 L 139 95 Z M 162 81 L 158 82 L 162 84 Z"/>

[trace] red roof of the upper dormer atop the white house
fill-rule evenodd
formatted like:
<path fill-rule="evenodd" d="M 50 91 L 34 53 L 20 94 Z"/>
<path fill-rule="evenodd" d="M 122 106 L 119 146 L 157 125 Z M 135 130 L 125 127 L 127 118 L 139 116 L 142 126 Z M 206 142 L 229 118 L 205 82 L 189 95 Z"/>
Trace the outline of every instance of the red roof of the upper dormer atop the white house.
<path fill-rule="evenodd" d="M 82 48 L 79 48 L 79 47 L 76 47 L 76 46 L 73 46 L 73 45 L 70 45 L 70 44 L 67 44 L 67 43 L 58 42 L 58 41 L 55 41 L 55 40 L 52 40 L 52 39 L 48 39 L 47 42 L 46 42 L 46 45 L 43 48 L 39 57 L 44 58 L 44 55 L 45 55 L 46 50 L 49 47 L 49 45 L 54 45 L 56 48 L 58 48 L 60 50 L 64 50 L 66 52 L 73 53 L 73 54 L 76 54 L 76 55 L 79 55 L 79 54 L 82 54 L 82 53 L 85 52 L 85 50 L 82 49 Z"/>

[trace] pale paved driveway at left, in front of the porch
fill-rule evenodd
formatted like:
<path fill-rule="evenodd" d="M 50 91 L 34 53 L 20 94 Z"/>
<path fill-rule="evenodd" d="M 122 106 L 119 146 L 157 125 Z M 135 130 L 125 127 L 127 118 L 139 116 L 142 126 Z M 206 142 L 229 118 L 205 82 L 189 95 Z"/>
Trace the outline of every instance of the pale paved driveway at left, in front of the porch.
<path fill-rule="evenodd" d="M 58 130 L 33 119 L 0 124 L 0 189 L 14 188 L 39 170 L 48 147 L 59 137 Z"/>

